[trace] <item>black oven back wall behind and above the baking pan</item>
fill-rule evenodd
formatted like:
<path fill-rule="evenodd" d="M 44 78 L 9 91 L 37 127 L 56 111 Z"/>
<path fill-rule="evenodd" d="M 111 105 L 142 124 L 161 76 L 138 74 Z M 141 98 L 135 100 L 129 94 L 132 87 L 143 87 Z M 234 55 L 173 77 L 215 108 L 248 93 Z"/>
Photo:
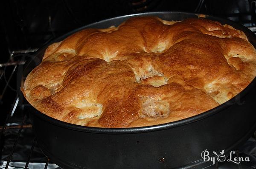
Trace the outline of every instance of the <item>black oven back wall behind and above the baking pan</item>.
<path fill-rule="evenodd" d="M 4 55 L 34 51 L 88 23 L 146 11 L 197 12 L 255 24 L 253 0 L 6 0 L 2 4 L 0 48 Z M 6 59 L 0 56 L 1 62 Z"/>

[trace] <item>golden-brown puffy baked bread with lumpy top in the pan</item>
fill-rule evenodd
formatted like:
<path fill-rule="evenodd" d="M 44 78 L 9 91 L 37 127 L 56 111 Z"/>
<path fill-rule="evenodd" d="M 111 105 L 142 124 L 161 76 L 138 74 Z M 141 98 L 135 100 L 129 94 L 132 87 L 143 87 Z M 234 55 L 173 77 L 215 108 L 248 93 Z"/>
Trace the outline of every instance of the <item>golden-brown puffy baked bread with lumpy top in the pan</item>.
<path fill-rule="evenodd" d="M 202 18 L 134 17 L 47 48 L 21 89 L 37 110 L 90 127 L 141 127 L 210 110 L 256 75 L 242 31 Z"/>

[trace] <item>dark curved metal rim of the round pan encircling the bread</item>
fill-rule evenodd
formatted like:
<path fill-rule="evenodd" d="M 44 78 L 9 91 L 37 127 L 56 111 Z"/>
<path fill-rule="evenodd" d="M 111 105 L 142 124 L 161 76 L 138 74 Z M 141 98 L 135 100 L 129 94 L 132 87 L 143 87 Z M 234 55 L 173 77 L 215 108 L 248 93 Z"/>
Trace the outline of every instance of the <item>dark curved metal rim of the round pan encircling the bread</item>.
<path fill-rule="evenodd" d="M 52 41 L 48 42 L 46 45 L 44 45 L 42 48 L 40 48 L 35 56 L 37 56 L 40 51 L 44 50 L 47 46 L 49 46 L 49 44 L 52 44 L 53 42 L 57 42 L 60 41 L 60 39 L 63 39 L 77 31 L 80 31 L 84 28 L 88 28 L 90 26 L 99 24 L 99 23 L 103 23 L 103 22 L 108 22 L 111 20 L 117 20 L 120 18 L 125 18 L 128 19 L 129 17 L 137 17 L 137 16 L 149 16 L 149 15 L 157 15 L 157 14 L 184 14 L 184 15 L 191 15 L 191 16 L 195 16 L 197 17 L 199 14 L 196 13 L 189 13 L 189 12 L 182 12 L 182 11 L 157 11 L 157 12 L 145 12 L 145 13 L 137 13 L 137 14 L 129 14 L 129 15 L 123 15 L 123 16 L 118 16 L 118 17 L 113 17 L 113 18 L 109 18 L 106 20 L 101 20 L 99 22 L 95 22 L 95 23 L 91 23 L 88 25 L 84 25 L 80 28 L 77 28 L 73 31 L 68 32 L 67 34 L 62 35 L 61 37 L 55 38 Z M 212 19 L 212 20 L 216 20 L 218 22 L 223 21 L 224 23 L 227 23 L 230 25 L 230 23 L 233 25 L 236 25 L 236 28 L 238 27 L 238 29 L 242 29 L 242 31 L 247 35 L 250 35 L 250 37 L 253 37 L 253 39 L 256 39 L 256 35 L 251 32 L 248 28 L 244 27 L 243 25 L 240 25 L 238 23 L 235 23 L 231 20 L 227 20 L 221 17 L 214 17 L 211 15 L 206 15 L 206 18 Z M 249 38 L 248 38 L 249 39 Z M 252 43 L 252 42 L 251 42 Z M 253 44 L 254 48 L 256 48 L 256 42 L 255 44 Z M 34 57 L 35 57 L 34 56 Z M 34 58 L 33 57 L 33 58 Z M 30 60 L 30 62 L 33 60 L 33 58 Z M 26 62 L 26 67 L 29 65 L 30 62 Z M 26 76 L 24 76 L 23 73 L 23 78 L 25 79 Z M 24 81 L 22 80 L 21 85 L 23 86 Z M 252 82 L 250 82 L 249 85 L 247 85 L 246 88 L 244 88 L 244 90 L 242 90 L 239 94 L 237 94 L 235 97 L 233 97 L 232 99 L 224 102 L 223 104 L 220 104 L 217 107 L 212 108 L 211 110 L 207 110 L 206 112 L 200 113 L 198 115 L 189 117 L 189 118 L 185 118 L 182 120 L 178 120 L 178 121 L 173 121 L 173 122 L 169 122 L 169 123 L 165 123 L 165 124 L 158 124 L 158 125 L 153 125 L 153 126 L 145 126 L 145 127 L 131 127 L 131 128 L 100 128 L 100 127 L 87 127 L 87 126 L 80 126 L 77 124 L 71 124 L 71 123 L 67 123 L 64 121 L 60 121 L 57 120 L 55 118 L 52 118 L 48 115 L 45 115 L 44 113 L 41 113 L 40 111 L 36 110 L 35 107 L 33 107 L 31 105 L 32 108 L 32 113 L 34 113 L 36 116 L 38 116 L 39 118 L 43 119 L 44 121 L 54 124 L 56 126 L 59 127 L 64 127 L 70 130 L 78 130 L 78 131 L 82 131 L 82 132 L 93 132 L 93 133 L 106 133 L 106 134 L 131 134 L 131 133 L 140 133 L 140 132 L 153 132 L 153 131 L 157 131 L 157 130 L 166 130 L 166 129 L 170 129 L 170 128 L 174 128 L 174 127 L 179 127 L 182 125 L 186 125 L 189 123 L 194 123 L 196 121 L 199 120 L 203 120 L 204 118 L 207 118 L 209 116 L 215 115 L 216 113 L 220 113 L 222 110 L 227 109 L 228 107 L 232 106 L 233 104 L 237 104 L 237 101 L 239 101 L 239 99 L 243 98 L 244 96 L 246 96 L 250 90 L 256 87 L 256 77 L 252 80 Z M 26 99 L 26 98 L 25 98 Z"/>

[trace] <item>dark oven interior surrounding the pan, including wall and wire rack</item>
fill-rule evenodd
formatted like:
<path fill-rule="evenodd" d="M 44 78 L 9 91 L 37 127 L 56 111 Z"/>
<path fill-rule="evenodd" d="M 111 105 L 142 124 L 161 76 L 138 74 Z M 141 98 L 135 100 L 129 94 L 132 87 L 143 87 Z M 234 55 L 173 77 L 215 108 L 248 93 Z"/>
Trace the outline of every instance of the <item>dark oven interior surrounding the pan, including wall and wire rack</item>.
<path fill-rule="evenodd" d="M 0 168 L 59 169 L 37 146 L 20 92 L 23 64 L 52 39 L 83 25 L 148 11 L 224 17 L 256 33 L 255 0 L 8 0 L 0 6 Z M 238 124 L 239 125 L 239 124 Z M 209 169 L 256 168 L 255 135 L 236 150 L 250 162 L 217 162 Z"/>

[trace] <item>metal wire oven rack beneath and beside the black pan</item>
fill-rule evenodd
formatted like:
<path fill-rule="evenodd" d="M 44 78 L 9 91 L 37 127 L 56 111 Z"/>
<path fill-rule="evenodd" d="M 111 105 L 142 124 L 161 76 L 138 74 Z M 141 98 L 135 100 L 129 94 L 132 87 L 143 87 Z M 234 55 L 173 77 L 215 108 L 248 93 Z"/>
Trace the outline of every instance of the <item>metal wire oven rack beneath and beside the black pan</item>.
<path fill-rule="evenodd" d="M 255 33 L 256 27 L 251 27 L 250 30 Z M 23 64 L 26 59 L 35 54 L 36 50 L 37 49 L 13 52 L 9 56 L 8 62 L 0 64 L 0 106 L 1 111 L 4 110 L 0 115 L 2 118 L 0 126 L 0 157 L 2 155 L 1 159 L 5 159 L 1 160 L 0 168 L 3 169 L 61 169 L 57 165 L 51 163 L 50 159 L 38 148 L 35 135 L 32 132 L 29 112 L 26 110 L 27 105 L 23 103 L 23 96 L 19 90 Z M 6 102 L 6 100 L 9 102 Z M 12 136 L 10 136 L 10 133 L 12 133 Z M 29 137 L 26 133 L 30 133 Z M 5 149 L 3 146 L 6 145 L 6 139 L 4 138 L 11 140 L 9 141 L 8 149 Z M 20 141 L 24 141 L 26 147 L 23 147 Z M 25 148 L 26 151 L 21 153 L 23 159 L 19 161 L 20 158 L 17 158 L 17 151 Z M 35 154 L 37 155 L 37 158 L 33 159 Z M 4 155 L 5 157 L 3 158 Z M 238 157 L 239 153 L 236 152 L 236 155 Z M 40 160 L 38 160 L 38 157 Z M 13 163 L 15 163 L 16 168 Z M 19 165 L 18 168 L 17 165 Z M 207 167 L 207 169 L 208 168 L 221 169 L 219 163 Z M 250 168 L 256 168 L 256 166 Z M 242 168 L 241 165 L 236 165 L 233 166 L 232 169 Z"/>

